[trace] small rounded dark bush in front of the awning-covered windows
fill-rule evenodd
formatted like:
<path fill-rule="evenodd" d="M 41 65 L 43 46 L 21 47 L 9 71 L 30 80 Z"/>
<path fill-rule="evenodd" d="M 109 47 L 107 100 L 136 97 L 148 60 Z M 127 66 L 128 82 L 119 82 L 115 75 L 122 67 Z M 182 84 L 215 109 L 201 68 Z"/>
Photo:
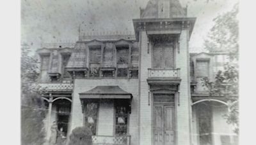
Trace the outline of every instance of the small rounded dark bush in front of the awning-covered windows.
<path fill-rule="evenodd" d="M 68 145 L 92 145 L 92 131 L 90 128 L 86 126 L 74 128 Z"/>

